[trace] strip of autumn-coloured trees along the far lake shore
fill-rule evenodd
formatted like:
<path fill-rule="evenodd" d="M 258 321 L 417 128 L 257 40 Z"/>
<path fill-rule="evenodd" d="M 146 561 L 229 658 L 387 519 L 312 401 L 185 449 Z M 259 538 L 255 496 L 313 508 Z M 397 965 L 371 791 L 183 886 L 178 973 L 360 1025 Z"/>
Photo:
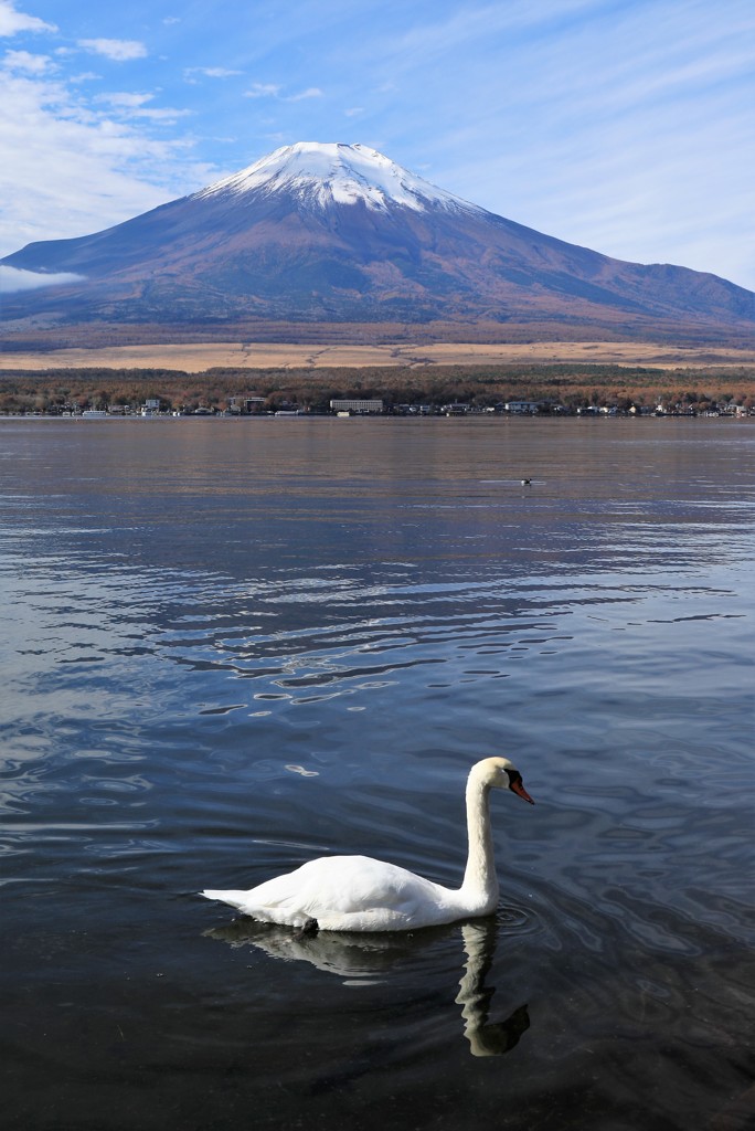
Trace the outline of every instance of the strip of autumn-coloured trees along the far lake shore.
<path fill-rule="evenodd" d="M 248 398 L 275 412 L 296 406 L 328 412 L 331 399 L 380 398 L 385 408 L 463 403 L 487 408 L 512 400 L 547 402 L 567 411 L 588 406 L 626 412 L 662 405 L 705 412 L 737 404 L 755 408 L 755 366 L 645 369 L 619 365 L 443 365 L 408 369 L 166 369 L 5 370 L 0 413 L 59 414 L 113 406 L 222 412 Z"/>

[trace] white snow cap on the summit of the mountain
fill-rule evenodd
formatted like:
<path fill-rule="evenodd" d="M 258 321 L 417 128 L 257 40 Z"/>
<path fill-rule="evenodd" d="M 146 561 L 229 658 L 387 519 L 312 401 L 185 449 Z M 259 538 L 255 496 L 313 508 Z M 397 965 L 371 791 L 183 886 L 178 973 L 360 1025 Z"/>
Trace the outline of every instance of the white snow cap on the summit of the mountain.
<path fill-rule="evenodd" d="M 331 202 L 383 210 L 389 204 L 415 211 L 443 207 L 478 211 L 451 192 L 431 184 L 365 145 L 297 141 L 196 193 L 197 197 L 281 190 L 321 207 Z"/>

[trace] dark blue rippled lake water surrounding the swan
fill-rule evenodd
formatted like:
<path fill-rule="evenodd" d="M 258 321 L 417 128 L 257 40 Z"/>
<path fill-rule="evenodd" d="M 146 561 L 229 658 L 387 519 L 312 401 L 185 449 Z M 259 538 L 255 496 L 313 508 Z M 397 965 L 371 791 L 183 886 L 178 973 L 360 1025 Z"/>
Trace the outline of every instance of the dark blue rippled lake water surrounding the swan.
<path fill-rule="evenodd" d="M 0 422 L 3 1125 L 752 1126 L 755 424 Z M 531 486 L 521 485 L 531 476 Z M 312 855 L 501 904 L 297 939 Z"/>

